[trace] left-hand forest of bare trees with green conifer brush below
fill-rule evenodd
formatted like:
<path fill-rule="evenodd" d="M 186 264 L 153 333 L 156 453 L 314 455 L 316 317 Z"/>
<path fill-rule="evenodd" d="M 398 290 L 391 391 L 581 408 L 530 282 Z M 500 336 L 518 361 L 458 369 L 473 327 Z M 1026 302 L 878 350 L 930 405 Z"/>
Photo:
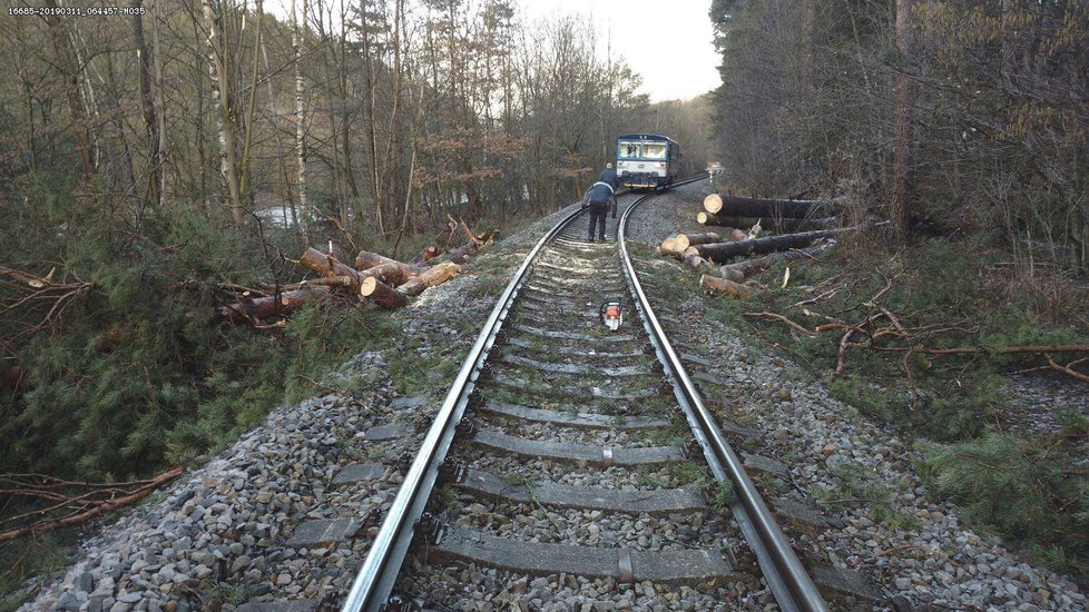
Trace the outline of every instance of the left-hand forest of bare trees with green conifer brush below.
<path fill-rule="evenodd" d="M 239 288 L 297 282 L 307 246 L 399 257 L 448 216 L 517 227 L 577 200 L 632 129 L 685 140 L 688 171 L 708 158 L 709 96 L 650 103 L 585 16 L 130 7 L 0 23 L 3 471 L 204 456 L 389 336 L 328 305 L 279 334 L 217 318 Z"/>

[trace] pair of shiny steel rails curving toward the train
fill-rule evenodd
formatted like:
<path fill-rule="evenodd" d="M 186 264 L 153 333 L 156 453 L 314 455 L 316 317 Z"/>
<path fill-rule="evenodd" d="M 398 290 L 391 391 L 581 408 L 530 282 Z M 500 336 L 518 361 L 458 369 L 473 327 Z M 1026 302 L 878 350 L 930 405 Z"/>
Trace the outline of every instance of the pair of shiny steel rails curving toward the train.
<path fill-rule="evenodd" d="M 690 180 L 698 180 L 699 178 Z M 730 504 L 730 509 L 749 546 L 756 553 L 759 569 L 776 602 L 783 610 L 827 610 L 813 581 L 802 567 L 801 562 L 776 525 L 772 513 L 761 500 L 755 486 L 742 467 L 742 462 L 727 444 L 714 417 L 704 406 L 639 284 L 638 276 L 628 257 L 624 235 L 632 210 L 651 196 L 647 195 L 639 198 L 624 211 L 617 233 L 624 274 L 628 280 L 631 297 L 644 328 L 663 369 L 673 383 L 674 395 L 685 412 L 688 425 L 699 442 L 712 473 L 719 481 L 733 482 L 736 499 Z M 470 397 L 484 372 L 484 364 L 496 345 L 504 322 L 516 305 L 519 293 L 530 278 L 530 272 L 542 249 L 556 241 L 565 230 L 570 231 L 571 224 L 581 216 L 582 211 L 580 210 L 571 213 L 541 237 L 499 297 L 494 309 L 484 323 L 483 329 L 436 412 L 419 454 L 404 476 L 401 488 L 344 602 L 342 610 L 345 612 L 379 611 L 386 604 L 412 543 L 416 525 L 432 494 L 440 465 L 450 451 L 458 425 L 461 423 Z M 630 561 L 628 563 L 630 564 Z"/>

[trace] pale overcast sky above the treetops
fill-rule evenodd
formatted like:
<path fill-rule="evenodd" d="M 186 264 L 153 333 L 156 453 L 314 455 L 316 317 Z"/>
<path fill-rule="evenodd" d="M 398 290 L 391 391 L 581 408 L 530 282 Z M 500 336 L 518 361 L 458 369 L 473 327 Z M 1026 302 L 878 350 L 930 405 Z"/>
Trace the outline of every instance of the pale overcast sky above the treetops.
<path fill-rule="evenodd" d="M 557 13 L 592 14 L 601 32 L 600 55 L 611 30 L 612 53 L 642 76 L 650 100 L 686 99 L 722 83 L 722 58 L 712 45 L 710 0 L 519 0 L 527 22 Z M 589 17 L 588 17 L 589 18 Z M 647 45 L 648 36 L 666 45 Z M 663 51 L 667 49 L 667 51 Z"/>

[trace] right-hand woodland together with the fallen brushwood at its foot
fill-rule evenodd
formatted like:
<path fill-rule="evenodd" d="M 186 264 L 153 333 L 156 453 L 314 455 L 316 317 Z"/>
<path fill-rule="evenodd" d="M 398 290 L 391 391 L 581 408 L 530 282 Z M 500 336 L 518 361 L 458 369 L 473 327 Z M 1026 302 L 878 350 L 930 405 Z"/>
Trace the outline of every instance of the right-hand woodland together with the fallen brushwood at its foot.
<path fill-rule="evenodd" d="M 929 495 L 973 529 L 1086 583 L 1089 3 L 715 0 L 710 17 L 729 188 L 892 227 L 781 264 L 724 316 L 915 440 Z M 1075 391 L 1037 404 L 1011 379 Z M 912 529 L 894 492 L 843 482 Z"/>

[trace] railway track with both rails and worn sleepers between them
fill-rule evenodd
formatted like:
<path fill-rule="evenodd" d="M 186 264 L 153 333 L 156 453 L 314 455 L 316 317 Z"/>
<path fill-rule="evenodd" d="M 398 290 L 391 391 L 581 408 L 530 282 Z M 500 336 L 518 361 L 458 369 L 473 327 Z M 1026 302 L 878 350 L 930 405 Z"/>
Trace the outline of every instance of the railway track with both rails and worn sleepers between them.
<path fill-rule="evenodd" d="M 648 591 L 759 609 L 765 589 L 783 610 L 826 609 L 649 308 L 622 240 L 649 197 L 624 196 L 605 243 L 586 240 L 577 211 L 527 256 L 343 610 L 567 609 L 553 598 Z M 610 300 L 616 332 L 598 319 Z"/>

